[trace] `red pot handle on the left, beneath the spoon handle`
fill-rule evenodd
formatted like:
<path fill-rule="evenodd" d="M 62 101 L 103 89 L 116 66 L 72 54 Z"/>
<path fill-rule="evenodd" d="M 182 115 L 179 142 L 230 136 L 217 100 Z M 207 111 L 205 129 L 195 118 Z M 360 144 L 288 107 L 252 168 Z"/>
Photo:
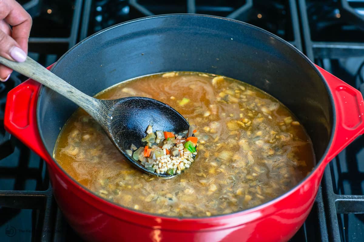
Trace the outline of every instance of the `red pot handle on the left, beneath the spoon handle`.
<path fill-rule="evenodd" d="M 51 66 L 47 67 L 49 70 Z M 5 103 L 4 127 L 43 160 L 52 160 L 40 138 L 36 106 L 41 84 L 28 79 L 9 91 Z"/>

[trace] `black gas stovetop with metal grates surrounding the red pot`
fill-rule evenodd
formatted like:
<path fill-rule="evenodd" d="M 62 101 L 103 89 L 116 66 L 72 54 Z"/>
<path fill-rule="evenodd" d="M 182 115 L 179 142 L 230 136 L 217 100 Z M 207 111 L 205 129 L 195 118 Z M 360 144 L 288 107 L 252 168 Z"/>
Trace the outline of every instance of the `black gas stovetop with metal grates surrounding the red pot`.
<path fill-rule="evenodd" d="M 165 13 L 201 13 L 248 22 L 289 41 L 349 85 L 364 89 L 364 0 L 21 0 L 33 17 L 29 56 L 44 66 L 119 22 Z M 173 3 L 171 3 L 173 2 Z M 0 83 L 0 241 L 81 241 L 52 195 L 46 163 L 3 127 Z M 364 137 L 325 170 L 313 209 L 291 242 L 364 241 Z"/>

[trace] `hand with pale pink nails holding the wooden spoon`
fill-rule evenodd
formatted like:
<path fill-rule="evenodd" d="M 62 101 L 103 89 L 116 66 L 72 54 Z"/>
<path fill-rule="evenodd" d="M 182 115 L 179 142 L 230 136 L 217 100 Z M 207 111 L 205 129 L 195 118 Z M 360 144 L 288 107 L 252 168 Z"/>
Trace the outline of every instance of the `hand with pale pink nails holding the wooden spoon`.
<path fill-rule="evenodd" d="M 0 56 L 12 61 L 25 61 L 31 27 L 32 17 L 17 1 L 0 0 Z M 0 65 L 0 81 L 7 81 L 12 71 Z"/>

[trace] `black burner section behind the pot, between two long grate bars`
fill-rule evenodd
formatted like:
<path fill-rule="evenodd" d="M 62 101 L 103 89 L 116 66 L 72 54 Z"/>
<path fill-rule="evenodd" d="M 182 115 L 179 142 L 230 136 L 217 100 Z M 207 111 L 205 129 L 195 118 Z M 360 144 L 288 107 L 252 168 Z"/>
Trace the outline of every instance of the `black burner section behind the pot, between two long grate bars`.
<path fill-rule="evenodd" d="M 292 4 L 293 1 L 289 1 Z M 294 4 L 295 6 L 295 4 Z M 287 1 L 108 1 L 98 0 L 93 5 L 88 35 L 108 26 L 139 17 L 168 13 L 199 13 L 236 19 L 277 34 L 287 41 L 294 40 L 290 5 Z M 294 9 L 294 11 L 296 11 Z M 296 15 L 297 17 L 297 15 Z M 298 29 L 297 29 L 298 30 Z"/>

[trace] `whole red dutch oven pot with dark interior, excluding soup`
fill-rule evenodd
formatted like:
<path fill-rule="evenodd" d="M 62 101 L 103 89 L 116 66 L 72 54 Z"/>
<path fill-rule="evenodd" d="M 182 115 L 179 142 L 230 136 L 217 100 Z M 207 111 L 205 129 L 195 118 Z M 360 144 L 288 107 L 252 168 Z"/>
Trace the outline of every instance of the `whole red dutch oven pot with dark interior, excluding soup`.
<path fill-rule="evenodd" d="M 88 241 L 288 241 L 312 208 L 325 166 L 364 132 L 359 91 L 284 40 L 235 20 L 176 14 L 125 22 L 80 42 L 49 68 L 88 95 L 171 70 L 236 78 L 292 110 L 316 155 L 317 165 L 303 181 L 255 208 L 204 218 L 143 213 L 90 192 L 56 163 L 56 138 L 77 106 L 28 80 L 8 94 L 5 128 L 47 162 L 60 209 Z"/>

